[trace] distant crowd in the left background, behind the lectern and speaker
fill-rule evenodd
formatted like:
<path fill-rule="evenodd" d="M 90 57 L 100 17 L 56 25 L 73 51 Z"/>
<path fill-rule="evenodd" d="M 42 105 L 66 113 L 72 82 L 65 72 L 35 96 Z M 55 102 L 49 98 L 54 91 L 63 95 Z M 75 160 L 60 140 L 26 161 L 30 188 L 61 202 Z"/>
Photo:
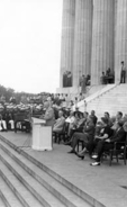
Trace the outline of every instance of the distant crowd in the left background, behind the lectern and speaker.
<path fill-rule="evenodd" d="M 40 117 L 44 115 L 46 106 L 45 102 L 47 99 L 52 100 L 52 108 L 54 110 L 55 119 L 58 117 L 58 110 L 63 109 L 69 111 L 72 109 L 75 101 L 73 102 L 68 94 L 48 94 L 45 93 L 43 96 L 26 97 L 22 96 L 20 102 L 17 103 L 14 97 L 10 98 L 7 102 L 4 96 L 0 98 L 0 131 L 15 130 L 16 128 L 23 128 L 20 123 L 23 120 L 27 120 L 30 116 Z M 30 131 L 28 122 L 27 131 Z M 24 126 L 25 128 L 26 126 Z M 29 128 L 29 129 L 28 129 Z"/>

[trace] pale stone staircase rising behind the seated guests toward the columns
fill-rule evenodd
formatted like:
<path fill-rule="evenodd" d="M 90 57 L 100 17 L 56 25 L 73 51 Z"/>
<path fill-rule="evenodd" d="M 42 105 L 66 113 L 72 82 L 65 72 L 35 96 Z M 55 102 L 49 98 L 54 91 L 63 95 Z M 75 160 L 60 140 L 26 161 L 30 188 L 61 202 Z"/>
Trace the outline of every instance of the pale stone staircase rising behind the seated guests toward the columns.
<path fill-rule="evenodd" d="M 116 115 L 120 110 L 127 113 L 127 84 L 114 85 L 108 90 L 106 86 L 104 89 L 95 92 L 92 96 L 87 97 L 87 111 L 95 110 L 98 117 L 102 116 L 104 111 L 109 111 L 112 115 Z M 84 111 L 84 101 L 79 102 L 79 109 Z"/>

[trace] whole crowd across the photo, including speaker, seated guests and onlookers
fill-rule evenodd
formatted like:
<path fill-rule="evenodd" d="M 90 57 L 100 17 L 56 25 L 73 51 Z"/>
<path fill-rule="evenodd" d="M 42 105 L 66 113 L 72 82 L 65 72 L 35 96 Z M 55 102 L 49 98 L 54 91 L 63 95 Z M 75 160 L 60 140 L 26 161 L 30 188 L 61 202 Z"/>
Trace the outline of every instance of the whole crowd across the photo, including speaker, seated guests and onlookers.
<path fill-rule="evenodd" d="M 76 107 L 73 111 L 71 107 L 57 105 L 58 101 L 60 97 L 57 94 L 57 98 L 47 96 L 38 104 L 16 104 L 14 100 L 10 103 L 1 103 L 0 131 L 17 131 L 24 128 L 26 132 L 30 132 L 32 116 L 45 119 L 46 125 L 52 127 L 54 141 L 70 145 L 69 153 L 81 159 L 84 159 L 88 152 L 90 158 L 95 159 L 91 162 L 92 166 L 101 164 L 102 154 L 112 149 L 115 142 L 126 140 L 127 114 L 123 116 L 119 111 L 116 116 L 110 117 L 110 114 L 105 112 L 98 120 L 94 110 L 90 114 L 87 111 L 82 113 Z M 61 101 L 64 102 L 62 96 Z M 77 152 L 79 142 L 82 142 L 83 150 Z"/>

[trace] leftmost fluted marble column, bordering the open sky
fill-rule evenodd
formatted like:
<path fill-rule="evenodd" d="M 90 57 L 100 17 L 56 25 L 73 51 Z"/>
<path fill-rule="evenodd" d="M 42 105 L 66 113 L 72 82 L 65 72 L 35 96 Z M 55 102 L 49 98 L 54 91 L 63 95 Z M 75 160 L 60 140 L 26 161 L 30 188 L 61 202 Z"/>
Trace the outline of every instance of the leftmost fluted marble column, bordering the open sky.
<path fill-rule="evenodd" d="M 60 87 L 63 87 L 63 73 L 73 70 L 75 27 L 75 0 L 63 0 L 62 43 L 61 43 L 61 68 Z"/>

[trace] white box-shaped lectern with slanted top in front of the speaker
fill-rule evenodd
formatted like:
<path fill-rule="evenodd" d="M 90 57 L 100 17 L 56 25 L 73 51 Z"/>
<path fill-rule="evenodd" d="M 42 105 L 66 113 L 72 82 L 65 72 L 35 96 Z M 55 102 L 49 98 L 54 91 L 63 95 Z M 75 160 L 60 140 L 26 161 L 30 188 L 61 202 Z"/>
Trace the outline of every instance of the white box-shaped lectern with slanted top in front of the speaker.
<path fill-rule="evenodd" d="M 34 150 L 52 150 L 52 127 L 45 124 L 45 120 L 32 117 L 32 149 Z"/>

